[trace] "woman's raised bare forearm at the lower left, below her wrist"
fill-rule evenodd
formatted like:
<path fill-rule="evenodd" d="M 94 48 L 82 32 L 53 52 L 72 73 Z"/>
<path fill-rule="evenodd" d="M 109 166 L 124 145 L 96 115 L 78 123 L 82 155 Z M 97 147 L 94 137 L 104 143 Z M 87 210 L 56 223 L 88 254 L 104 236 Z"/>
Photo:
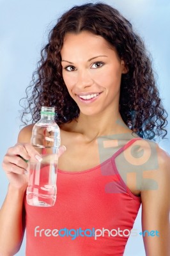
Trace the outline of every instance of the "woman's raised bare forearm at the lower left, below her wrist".
<path fill-rule="evenodd" d="M 22 225 L 24 189 L 11 185 L 0 211 L 0 255 L 15 254 L 22 242 L 24 227 Z"/>

